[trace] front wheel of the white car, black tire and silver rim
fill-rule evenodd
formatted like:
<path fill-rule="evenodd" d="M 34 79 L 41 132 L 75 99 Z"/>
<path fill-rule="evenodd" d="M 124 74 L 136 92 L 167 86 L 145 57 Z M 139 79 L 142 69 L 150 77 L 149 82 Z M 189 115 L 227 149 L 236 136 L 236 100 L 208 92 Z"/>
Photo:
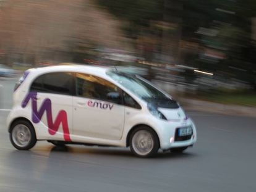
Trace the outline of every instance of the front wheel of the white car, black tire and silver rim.
<path fill-rule="evenodd" d="M 159 139 L 150 127 L 140 126 L 130 135 L 130 151 L 137 157 L 153 157 L 160 148 Z"/>

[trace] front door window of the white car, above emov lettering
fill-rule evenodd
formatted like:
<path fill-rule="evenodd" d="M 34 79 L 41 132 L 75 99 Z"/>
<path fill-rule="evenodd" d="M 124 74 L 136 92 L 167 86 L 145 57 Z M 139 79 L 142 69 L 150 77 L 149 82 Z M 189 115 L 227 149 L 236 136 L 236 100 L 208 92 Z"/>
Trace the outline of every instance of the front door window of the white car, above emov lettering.
<path fill-rule="evenodd" d="M 76 73 L 75 77 L 77 96 L 120 103 L 119 88 L 113 83 L 84 73 Z"/>

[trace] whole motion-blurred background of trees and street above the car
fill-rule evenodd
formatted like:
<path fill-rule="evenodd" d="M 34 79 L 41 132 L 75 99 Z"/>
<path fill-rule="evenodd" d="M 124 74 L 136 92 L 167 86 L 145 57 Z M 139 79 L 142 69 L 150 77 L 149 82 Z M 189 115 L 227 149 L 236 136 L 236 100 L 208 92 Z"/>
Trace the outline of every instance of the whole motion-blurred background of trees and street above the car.
<path fill-rule="evenodd" d="M 256 106 L 256 1 L 0 0 L 0 98 L 31 67 L 116 65 L 177 100 Z"/>

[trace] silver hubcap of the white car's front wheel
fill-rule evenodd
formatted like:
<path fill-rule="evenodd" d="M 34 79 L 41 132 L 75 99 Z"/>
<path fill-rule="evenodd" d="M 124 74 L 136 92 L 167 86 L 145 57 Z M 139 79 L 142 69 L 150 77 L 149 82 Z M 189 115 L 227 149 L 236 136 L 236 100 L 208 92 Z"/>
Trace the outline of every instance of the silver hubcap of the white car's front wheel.
<path fill-rule="evenodd" d="M 134 151 L 140 156 L 145 156 L 153 149 L 154 141 L 151 133 L 146 130 L 137 131 L 132 138 Z"/>

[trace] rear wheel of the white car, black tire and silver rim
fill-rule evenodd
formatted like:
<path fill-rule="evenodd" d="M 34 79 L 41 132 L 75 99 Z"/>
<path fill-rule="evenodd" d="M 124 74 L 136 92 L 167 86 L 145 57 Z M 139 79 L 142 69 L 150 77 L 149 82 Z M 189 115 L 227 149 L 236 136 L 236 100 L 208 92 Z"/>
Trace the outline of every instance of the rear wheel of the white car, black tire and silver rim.
<path fill-rule="evenodd" d="M 14 148 L 19 150 L 31 149 L 36 144 L 35 129 L 27 120 L 12 123 L 9 136 Z"/>

